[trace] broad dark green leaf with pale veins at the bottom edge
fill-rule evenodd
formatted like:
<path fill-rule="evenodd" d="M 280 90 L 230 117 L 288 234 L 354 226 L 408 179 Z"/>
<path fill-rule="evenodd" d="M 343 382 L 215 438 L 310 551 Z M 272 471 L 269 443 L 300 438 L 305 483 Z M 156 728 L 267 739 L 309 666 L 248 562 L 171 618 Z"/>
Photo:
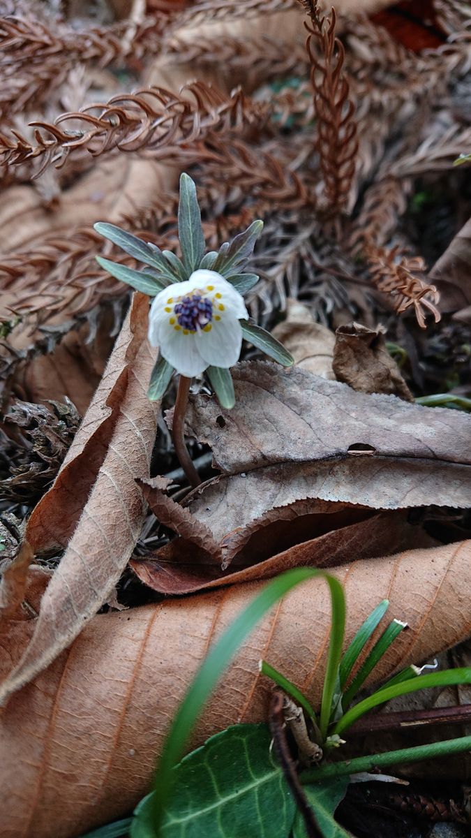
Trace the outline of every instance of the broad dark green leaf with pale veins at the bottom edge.
<path fill-rule="evenodd" d="M 271 740 L 267 725 L 235 725 L 185 757 L 159 838 L 288 838 L 296 805 Z M 148 799 L 137 807 L 132 838 L 155 835 L 152 828 Z"/>

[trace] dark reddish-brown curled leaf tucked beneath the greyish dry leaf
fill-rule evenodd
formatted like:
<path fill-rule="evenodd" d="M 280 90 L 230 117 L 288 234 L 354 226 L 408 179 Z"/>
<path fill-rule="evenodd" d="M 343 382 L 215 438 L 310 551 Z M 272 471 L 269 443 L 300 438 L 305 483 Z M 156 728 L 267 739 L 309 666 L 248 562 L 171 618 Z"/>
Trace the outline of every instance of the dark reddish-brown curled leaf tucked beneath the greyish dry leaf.
<path fill-rule="evenodd" d="M 199 524 L 197 518 L 194 522 Z M 432 543 L 398 510 L 375 514 L 362 507 L 301 500 L 227 533 L 220 543 L 219 553 L 222 548 L 225 556 L 222 568 L 219 553 L 211 553 L 207 542 L 201 547 L 189 537 L 175 539 L 153 556 L 130 564 L 148 587 L 181 594 L 266 579 L 292 567 L 334 567 L 352 556 L 384 556 Z"/>

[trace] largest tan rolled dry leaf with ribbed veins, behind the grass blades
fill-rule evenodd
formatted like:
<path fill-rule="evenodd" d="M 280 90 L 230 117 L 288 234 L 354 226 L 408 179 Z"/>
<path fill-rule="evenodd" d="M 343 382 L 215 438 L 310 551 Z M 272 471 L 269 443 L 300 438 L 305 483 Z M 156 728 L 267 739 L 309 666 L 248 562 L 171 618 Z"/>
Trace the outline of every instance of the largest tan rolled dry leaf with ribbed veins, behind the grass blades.
<path fill-rule="evenodd" d="M 391 601 L 388 619 L 409 624 L 381 660 L 378 679 L 470 633 L 469 541 L 357 561 L 334 573 L 346 591 L 347 642 L 382 597 Z M 199 662 L 261 585 L 100 615 L 13 696 L 0 718 L 4 838 L 75 838 L 131 810 L 148 790 L 168 724 Z M 34 630 L 30 613 L 8 623 L 3 673 Z M 237 654 L 192 744 L 229 724 L 266 717 L 270 686 L 258 674 L 261 657 L 318 705 L 328 637 L 329 592 L 320 580 L 306 582 Z"/>

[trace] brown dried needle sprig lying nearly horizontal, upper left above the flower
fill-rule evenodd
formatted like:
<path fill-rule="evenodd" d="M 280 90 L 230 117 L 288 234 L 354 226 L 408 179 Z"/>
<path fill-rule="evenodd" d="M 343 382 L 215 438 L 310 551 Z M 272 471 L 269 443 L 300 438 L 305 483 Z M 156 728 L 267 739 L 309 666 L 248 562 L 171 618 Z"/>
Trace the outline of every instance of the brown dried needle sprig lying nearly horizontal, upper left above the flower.
<path fill-rule="evenodd" d="M 90 112 L 96 110 L 100 111 L 98 116 Z M 16 131 L 12 132 L 14 139 L 0 135 L 0 159 L 4 165 L 15 165 L 42 158 L 35 177 L 51 163 L 63 166 L 77 149 L 93 157 L 119 148 L 120 152 L 163 159 L 172 157 L 175 147 L 191 146 L 206 132 L 224 134 L 248 125 L 261 127 L 267 122 L 268 111 L 267 103 L 254 102 L 241 90 L 227 97 L 200 81 L 188 85 L 180 96 L 153 87 L 113 96 L 106 105 L 93 104 L 62 114 L 54 124 L 32 122 L 34 142 Z M 71 131 L 62 127 L 71 120 L 85 123 L 86 128 Z"/>

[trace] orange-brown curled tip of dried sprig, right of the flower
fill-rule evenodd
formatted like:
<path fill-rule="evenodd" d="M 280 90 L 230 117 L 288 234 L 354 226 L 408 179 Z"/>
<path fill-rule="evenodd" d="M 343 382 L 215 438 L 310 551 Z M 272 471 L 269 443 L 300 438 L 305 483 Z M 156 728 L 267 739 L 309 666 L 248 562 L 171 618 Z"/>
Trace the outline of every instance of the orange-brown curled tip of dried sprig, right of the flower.
<path fill-rule="evenodd" d="M 416 276 L 426 270 L 422 257 L 401 255 L 398 246 L 387 250 L 371 242 L 366 246 L 365 253 L 371 281 L 379 291 L 391 295 L 396 313 L 401 314 L 407 308 L 413 308 L 417 323 L 421 328 L 426 328 L 425 317 L 428 311 L 433 314 L 435 323 L 438 323 L 441 314 L 437 309 L 440 299 L 437 288 L 427 285 L 427 282 Z"/>

